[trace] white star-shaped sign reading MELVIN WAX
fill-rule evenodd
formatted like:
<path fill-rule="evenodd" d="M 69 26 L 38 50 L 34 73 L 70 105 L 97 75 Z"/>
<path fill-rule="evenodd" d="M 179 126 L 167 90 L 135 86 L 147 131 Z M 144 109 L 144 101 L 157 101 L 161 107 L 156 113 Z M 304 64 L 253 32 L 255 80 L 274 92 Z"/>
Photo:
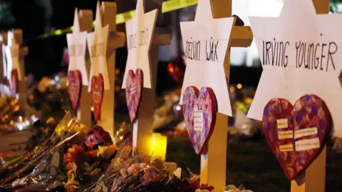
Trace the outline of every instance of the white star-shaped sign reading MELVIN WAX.
<path fill-rule="evenodd" d="M 233 23 L 234 18 L 212 18 L 208 0 L 198 1 L 195 21 L 180 22 L 187 63 L 180 104 L 188 86 L 211 87 L 218 112 L 232 116 L 224 58 Z"/>

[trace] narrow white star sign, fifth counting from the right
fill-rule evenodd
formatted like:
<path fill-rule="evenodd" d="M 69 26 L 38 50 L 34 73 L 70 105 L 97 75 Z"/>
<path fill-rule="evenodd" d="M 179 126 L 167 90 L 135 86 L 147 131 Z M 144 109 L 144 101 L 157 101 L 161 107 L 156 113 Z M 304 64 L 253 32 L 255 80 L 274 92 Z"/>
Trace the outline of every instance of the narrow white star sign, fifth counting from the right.
<path fill-rule="evenodd" d="M 68 41 L 70 55 L 68 72 L 70 70 L 80 70 L 82 74 L 82 85 L 88 85 L 88 73 L 86 70 L 87 32 L 81 32 L 80 30 L 77 9 L 75 9 L 75 18 L 73 19 L 73 33 L 67 34 L 66 40 Z"/>

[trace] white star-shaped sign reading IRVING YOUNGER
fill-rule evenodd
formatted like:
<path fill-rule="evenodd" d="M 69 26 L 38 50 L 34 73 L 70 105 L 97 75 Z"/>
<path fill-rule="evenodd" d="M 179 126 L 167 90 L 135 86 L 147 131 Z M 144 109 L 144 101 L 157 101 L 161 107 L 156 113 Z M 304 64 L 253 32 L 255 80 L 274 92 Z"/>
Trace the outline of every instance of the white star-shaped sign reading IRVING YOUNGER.
<path fill-rule="evenodd" d="M 279 17 L 250 17 L 263 72 L 248 117 L 262 119 L 269 100 L 292 104 L 306 94 L 321 97 L 342 137 L 341 14 L 316 14 L 311 0 L 286 0 Z"/>

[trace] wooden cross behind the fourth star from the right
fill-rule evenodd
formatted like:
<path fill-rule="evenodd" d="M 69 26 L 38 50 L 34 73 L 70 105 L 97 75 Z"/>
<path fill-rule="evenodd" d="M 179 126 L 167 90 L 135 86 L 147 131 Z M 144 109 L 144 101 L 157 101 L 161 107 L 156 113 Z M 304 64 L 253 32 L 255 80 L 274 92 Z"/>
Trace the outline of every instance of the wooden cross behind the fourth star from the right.
<path fill-rule="evenodd" d="M 109 25 L 107 68 L 110 90 L 104 90 L 100 126 L 114 137 L 115 108 L 115 49 L 125 46 L 125 33 L 116 32 L 116 3 L 103 1 L 100 8 L 103 26 Z"/>

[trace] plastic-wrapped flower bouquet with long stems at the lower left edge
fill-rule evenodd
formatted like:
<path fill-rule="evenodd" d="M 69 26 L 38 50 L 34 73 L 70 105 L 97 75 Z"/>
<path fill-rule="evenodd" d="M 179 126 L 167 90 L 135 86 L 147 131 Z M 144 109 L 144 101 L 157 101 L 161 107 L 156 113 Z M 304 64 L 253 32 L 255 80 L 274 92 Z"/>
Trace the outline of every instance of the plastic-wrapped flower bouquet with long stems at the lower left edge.
<path fill-rule="evenodd" d="M 1 166 L 0 185 L 5 188 L 12 188 L 26 184 L 26 180 L 29 180 L 28 177 L 32 178 L 32 181 L 35 180 L 36 178 L 33 178 L 33 175 L 40 172 L 39 170 L 42 170 L 40 168 L 45 167 L 65 143 L 71 139 L 76 139 L 85 132 L 84 129 L 86 127 L 80 126 L 76 117 L 68 112 L 49 139 L 36 146 L 33 151 L 29 151 Z"/>

